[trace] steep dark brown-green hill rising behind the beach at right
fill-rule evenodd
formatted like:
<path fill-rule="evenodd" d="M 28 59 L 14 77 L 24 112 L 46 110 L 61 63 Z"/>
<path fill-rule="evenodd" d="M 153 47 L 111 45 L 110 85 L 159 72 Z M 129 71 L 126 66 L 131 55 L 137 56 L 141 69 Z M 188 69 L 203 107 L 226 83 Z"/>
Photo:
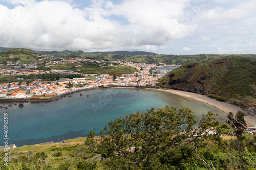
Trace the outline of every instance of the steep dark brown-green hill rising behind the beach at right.
<path fill-rule="evenodd" d="M 253 83 L 256 84 L 256 61 L 239 57 L 187 63 L 159 80 L 160 87 L 225 98 L 250 95 L 249 86 Z"/>

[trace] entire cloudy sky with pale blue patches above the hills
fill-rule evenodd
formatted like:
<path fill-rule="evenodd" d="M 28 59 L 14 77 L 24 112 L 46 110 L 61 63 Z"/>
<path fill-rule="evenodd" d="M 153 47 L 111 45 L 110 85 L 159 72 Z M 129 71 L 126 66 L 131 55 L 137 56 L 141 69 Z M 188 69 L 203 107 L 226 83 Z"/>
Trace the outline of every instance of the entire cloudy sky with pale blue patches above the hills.
<path fill-rule="evenodd" d="M 0 46 L 256 54 L 255 0 L 0 0 Z"/>

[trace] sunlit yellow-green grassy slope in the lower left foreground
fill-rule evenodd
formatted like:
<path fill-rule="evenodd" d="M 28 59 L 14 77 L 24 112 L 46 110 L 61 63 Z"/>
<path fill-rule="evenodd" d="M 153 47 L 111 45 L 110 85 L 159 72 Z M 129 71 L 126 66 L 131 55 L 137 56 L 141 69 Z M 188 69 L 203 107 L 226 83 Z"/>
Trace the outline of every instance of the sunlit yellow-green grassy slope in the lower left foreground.
<path fill-rule="evenodd" d="M 33 159 L 37 153 L 44 152 L 47 155 L 45 158 L 47 164 L 54 167 L 53 169 L 56 169 L 59 164 L 65 163 L 66 159 L 73 159 L 75 164 L 75 160 L 77 159 L 93 160 L 97 158 L 97 154 L 91 153 L 87 149 L 87 145 L 84 144 L 85 140 L 86 138 L 77 138 L 65 140 L 66 143 L 24 145 L 23 147 L 8 150 L 9 160 L 27 161 L 28 159 Z M 60 156 L 54 155 L 58 152 L 61 153 Z M 4 150 L 1 150 L 0 155 L 3 157 L 4 154 Z M 9 162 L 9 166 L 12 166 L 12 163 L 15 161 Z"/>

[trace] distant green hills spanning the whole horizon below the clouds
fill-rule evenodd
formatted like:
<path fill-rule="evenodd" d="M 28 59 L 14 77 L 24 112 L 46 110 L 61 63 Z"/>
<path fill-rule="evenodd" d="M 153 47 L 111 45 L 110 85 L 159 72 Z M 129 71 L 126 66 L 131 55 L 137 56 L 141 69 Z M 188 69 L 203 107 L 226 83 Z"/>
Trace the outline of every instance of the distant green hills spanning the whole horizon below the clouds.
<path fill-rule="evenodd" d="M 6 50 L 8 49 L 8 50 Z M 4 51 L 3 51 L 4 50 Z M 86 59 L 96 59 L 96 60 L 113 60 L 121 59 L 127 60 L 135 63 L 159 63 L 163 62 L 165 64 L 185 64 L 188 62 L 196 61 L 211 61 L 221 58 L 229 57 L 243 57 L 249 60 L 256 60 L 255 54 L 230 54 L 230 55 L 219 55 L 219 54 L 196 54 L 196 55 L 158 55 L 155 53 L 148 53 L 142 51 L 115 51 L 115 52 L 92 52 L 86 53 L 83 51 L 33 51 L 27 48 L 5 48 L 0 47 L 0 64 L 4 61 L 13 60 L 30 60 L 35 59 L 38 55 L 51 55 L 55 57 L 67 57 L 67 58 L 86 58 Z M 10 56 L 11 55 L 11 56 Z M 146 56 L 143 56 L 146 55 Z M 22 58 L 20 58 L 22 57 Z M 33 58 L 31 58 L 33 57 Z M 20 59 L 18 59 L 20 58 Z M 24 61 L 25 62 L 25 61 Z M 26 61 L 27 62 L 27 61 Z"/>

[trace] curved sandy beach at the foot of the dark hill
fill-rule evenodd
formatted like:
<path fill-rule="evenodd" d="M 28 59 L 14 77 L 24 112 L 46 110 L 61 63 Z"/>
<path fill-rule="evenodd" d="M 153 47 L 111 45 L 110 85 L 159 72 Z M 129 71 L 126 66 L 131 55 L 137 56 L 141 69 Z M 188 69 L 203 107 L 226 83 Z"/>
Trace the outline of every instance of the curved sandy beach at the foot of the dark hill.
<path fill-rule="evenodd" d="M 152 90 L 152 88 L 150 88 L 150 89 Z M 197 94 L 197 93 L 193 93 L 193 92 L 173 90 L 173 89 L 153 89 L 153 90 L 160 90 L 160 91 L 165 91 L 165 92 L 169 92 L 172 94 L 182 95 L 186 98 L 191 98 L 191 99 L 206 103 L 206 104 L 213 106 L 227 114 L 229 112 L 237 113 L 238 111 L 243 111 L 238 106 L 234 106 L 234 105 L 231 105 L 226 102 L 217 101 L 215 99 L 209 98 L 207 95 L 201 95 L 201 94 Z M 245 120 L 246 120 L 247 126 L 256 126 L 256 115 L 255 116 L 247 115 L 247 116 L 245 116 Z"/>

